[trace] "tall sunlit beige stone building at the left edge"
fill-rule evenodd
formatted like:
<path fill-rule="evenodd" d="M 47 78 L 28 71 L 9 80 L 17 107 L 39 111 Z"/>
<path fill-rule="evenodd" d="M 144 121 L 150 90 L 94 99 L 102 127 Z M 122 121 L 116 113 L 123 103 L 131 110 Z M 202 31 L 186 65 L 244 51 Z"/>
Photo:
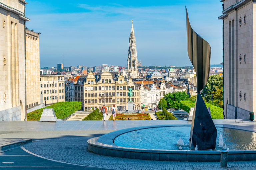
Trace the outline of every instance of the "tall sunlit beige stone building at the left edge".
<path fill-rule="evenodd" d="M 25 16 L 24 0 L 0 3 L 0 121 L 25 119 Z M 39 70 L 38 70 L 39 71 Z"/>

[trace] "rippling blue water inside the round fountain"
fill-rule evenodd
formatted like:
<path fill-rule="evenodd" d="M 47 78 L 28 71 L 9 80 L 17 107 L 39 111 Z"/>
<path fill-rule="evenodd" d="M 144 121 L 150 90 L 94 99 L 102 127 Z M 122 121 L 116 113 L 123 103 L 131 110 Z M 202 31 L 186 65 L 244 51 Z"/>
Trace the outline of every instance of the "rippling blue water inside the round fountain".
<path fill-rule="evenodd" d="M 117 146 L 143 148 L 143 149 L 169 149 L 169 150 L 190 150 L 189 135 L 191 127 L 162 127 L 148 128 L 124 133 L 118 136 L 114 143 Z M 256 149 L 256 133 L 245 130 L 230 128 L 217 128 L 216 150 L 219 147 L 219 136 L 222 134 L 224 145 L 230 150 Z M 177 145 L 181 138 L 184 145 Z"/>

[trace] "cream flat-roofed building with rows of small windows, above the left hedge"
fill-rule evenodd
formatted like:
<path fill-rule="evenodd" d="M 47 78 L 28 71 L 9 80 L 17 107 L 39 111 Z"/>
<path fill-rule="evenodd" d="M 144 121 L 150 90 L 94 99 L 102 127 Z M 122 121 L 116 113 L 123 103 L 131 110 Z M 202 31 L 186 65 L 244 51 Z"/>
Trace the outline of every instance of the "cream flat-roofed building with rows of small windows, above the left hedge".
<path fill-rule="evenodd" d="M 63 75 L 40 75 L 40 94 L 46 106 L 65 101 Z"/>

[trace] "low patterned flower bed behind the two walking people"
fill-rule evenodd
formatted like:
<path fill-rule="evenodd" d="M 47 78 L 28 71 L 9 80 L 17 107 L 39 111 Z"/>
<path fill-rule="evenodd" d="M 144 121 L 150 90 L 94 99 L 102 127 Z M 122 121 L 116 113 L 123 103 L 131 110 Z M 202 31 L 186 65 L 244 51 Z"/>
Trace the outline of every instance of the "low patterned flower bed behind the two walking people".
<path fill-rule="evenodd" d="M 151 120 L 151 117 L 149 116 L 148 113 L 133 113 L 133 114 L 128 114 L 128 113 L 120 113 L 116 114 L 116 120 Z M 112 115 L 110 116 L 109 120 L 113 120 Z"/>

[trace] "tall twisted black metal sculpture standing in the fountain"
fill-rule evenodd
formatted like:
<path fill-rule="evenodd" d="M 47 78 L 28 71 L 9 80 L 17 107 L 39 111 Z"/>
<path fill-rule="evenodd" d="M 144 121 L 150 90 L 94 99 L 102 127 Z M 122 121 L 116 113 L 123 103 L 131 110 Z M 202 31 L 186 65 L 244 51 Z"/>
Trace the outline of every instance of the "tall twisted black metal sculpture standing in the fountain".
<path fill-rule="evenodd" d="M 198 150 L 215 149 L 217 129 L 200 94 L 209 78 L 211 46 L 191 28 L 187 8 L 186 17 L 188 56 L 196 71 L 198 93 L 192 118 L 189 146 L 192 150 L 196 145 Z"/>

